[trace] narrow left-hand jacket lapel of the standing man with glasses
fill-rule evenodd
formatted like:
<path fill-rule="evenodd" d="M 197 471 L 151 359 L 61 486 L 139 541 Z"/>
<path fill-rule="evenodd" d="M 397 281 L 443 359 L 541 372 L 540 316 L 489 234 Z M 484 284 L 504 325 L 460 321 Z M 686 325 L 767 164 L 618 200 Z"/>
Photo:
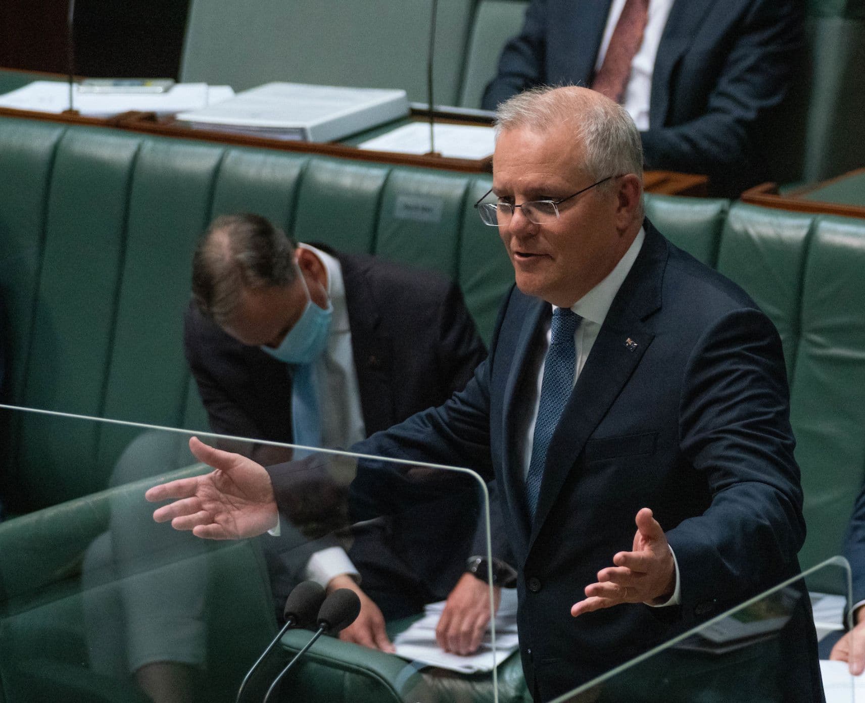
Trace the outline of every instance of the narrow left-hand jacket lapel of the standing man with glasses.
<path fill-rule="evenodd" d="M 522 329 L 516 342 L 514 358 L 510 363 L 510 371 L 503 396 L 502 437 L 504 456 L 502 474 L 506 479 L 504 485 L 505 497 L 508 504 L 512 507 L 513 514 L 518 516 L 521 527 L 520 535 L 523 540 L 526 540 L 517 550 L 517 553 L 522 554 L 528 553 L 525 547 L 529 538 L 529 514 L 525 507 L 522 457 L 517 456 L 516 453 L 520 444 L 517 440 L 519 439 L 518 433 L 521 431 L 521 428 L 517 426 L 515 413 L 516 408 L 522 406 L 522 399 L 517 398 L 516 393 L 523 383 L 531 382 L 526 377 L 527 364 L 530 361 L 530 351 L 534 348 L 534 342 L 541 333 L 543 321 L 548 319 L 551 311 L 550 304 L 540 299 L 535 299 L 530 304 L 529 311 L 522 320 Z"/>

